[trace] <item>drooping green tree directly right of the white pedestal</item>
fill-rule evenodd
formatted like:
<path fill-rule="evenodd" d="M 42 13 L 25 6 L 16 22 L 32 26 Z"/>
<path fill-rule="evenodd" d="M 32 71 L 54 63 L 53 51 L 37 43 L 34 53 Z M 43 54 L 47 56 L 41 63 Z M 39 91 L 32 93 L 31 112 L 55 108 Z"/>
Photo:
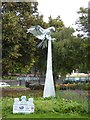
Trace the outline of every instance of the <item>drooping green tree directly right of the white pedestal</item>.
<path fill-rule="evenodd" d="M 74 69 L 87 72 L 87 41 L 73 35 L 73 28 L 64 28 L 53 36 L 53 65 L 54 74 L 71 73 Z"/>

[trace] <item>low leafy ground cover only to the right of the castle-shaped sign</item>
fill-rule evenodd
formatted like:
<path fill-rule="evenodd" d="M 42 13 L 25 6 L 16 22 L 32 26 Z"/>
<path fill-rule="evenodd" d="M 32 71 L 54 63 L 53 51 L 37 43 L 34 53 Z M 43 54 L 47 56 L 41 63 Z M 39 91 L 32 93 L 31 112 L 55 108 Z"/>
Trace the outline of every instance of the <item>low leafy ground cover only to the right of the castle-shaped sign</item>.
<path fill-rule="evenodd" d="M 72 112 L 85 112 L 82 105 L 71 100 L 60 99 L 60 98 L 48 98 L 44 100 L 35 101 L 36 112 L 37 113 L 49 113 L 49 112 L 59 112 L 59 113 L 72 113 Z M 49 107 L 48 107 L 49 106 Z"/>

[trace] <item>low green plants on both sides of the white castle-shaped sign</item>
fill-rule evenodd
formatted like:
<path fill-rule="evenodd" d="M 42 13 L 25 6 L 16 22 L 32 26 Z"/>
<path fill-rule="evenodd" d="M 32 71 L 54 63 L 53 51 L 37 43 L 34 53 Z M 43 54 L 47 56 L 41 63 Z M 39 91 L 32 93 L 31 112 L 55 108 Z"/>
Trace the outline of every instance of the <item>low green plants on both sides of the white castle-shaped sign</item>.
<path fill-rule="evenodd" d="M 8 103 L 8 104 L 7 104 Z M 35 113 L 34 114 L 43 114 L 43 113 L 86 113 L 86 110 L 83 108 L 83 105 L 74 102 L 72 100 L 57 98 L 35 98 Z M 2 98 L 2 115 L 7 117 L 12 115 L 12 98 Z"/>

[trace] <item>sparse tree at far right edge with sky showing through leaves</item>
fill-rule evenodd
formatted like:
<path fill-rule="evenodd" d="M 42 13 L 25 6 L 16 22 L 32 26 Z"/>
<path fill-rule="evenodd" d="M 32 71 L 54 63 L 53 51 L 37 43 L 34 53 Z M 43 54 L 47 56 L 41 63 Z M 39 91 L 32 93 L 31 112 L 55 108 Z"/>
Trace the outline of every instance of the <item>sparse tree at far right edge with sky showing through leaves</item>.
<path fill-rule="evenodd" d="M 89 71 L 89 37 L 90 37 L 90 9 L 89 8 L 83 8 L 80 7 L 78 11 L 79 19 L 76 21 L 76 25 L 78 25 L 77 31 L 79 31 L 78 36 L 82 37 L 83 42 L 83 49 L 84 49 L 84 55 L 85 55 L 85 61 L 81 65 L 81 68 L 84 71 Z"/>

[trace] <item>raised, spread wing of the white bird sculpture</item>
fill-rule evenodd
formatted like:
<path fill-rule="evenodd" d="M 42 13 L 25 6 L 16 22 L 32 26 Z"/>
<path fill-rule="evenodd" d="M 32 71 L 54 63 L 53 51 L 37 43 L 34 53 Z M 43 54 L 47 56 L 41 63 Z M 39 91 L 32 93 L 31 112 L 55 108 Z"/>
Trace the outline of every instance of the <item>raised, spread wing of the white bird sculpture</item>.
<path fill-rule="evenodd" d="M 40 40 L 45 39 L 45 30 L 39 26 L 31 26 L 29 29 L 27 29 L 27 33 L 30 32 L 32 33 L 35 37 L 37 37 Z"/>

